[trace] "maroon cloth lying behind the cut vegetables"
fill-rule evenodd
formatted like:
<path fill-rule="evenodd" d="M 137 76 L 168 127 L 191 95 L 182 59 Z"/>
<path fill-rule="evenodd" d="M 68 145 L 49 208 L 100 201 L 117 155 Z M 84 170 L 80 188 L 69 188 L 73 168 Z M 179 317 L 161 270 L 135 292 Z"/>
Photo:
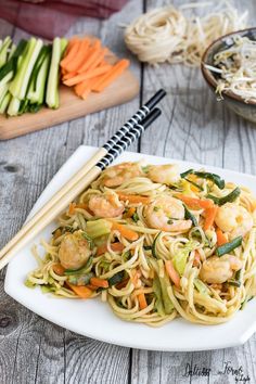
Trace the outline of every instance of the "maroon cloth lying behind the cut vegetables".
<path fill-rule="evenodd" d="M 31 0 L 33 1 L 33 0 Z M 34 0 L 36 1 L 36 0 Z M 107 18 L 128 0 L 0 0 L 0 17 L 37 36 L 52 39 L 66 34 L 79 16 Z"/>

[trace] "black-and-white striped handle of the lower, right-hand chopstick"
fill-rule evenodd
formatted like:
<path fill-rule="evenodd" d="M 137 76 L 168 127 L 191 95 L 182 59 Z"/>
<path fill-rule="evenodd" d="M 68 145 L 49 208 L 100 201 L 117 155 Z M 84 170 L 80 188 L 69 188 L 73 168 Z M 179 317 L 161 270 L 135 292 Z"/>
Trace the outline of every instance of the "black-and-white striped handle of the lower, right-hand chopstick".
<path fill-rule="evenodd" d="M 97 167 L 101 170 L 104 170 L 108 165 L 111 165 L 114 159 L 119 156 L 124 151 L 127 150 L 128 146 L 131 145 L 144 132 L 144 130 L 153 123 L 155 119 L 162 114 L 159 108 L 152 110 L 148 116 L 141 120 L 140 124 L 137 124 L 133 128 L 131 128 L 123 138 L 108 150 L 107 154 L 97 163 Z"/>

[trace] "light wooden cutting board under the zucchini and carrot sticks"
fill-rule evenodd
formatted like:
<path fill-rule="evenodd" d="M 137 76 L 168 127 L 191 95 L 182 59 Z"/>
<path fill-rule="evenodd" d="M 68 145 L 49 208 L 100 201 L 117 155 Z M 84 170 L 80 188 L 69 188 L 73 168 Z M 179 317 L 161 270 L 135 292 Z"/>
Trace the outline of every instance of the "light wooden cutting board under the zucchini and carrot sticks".
<path fill-rule="evenodd" d="M 110 53 L 107 61 L 113 63 L 117 57 Z M 86 116 L 93 112 L 106 110 L 133 99 L 139 92 L 139 82 L 130 71 L 125 71 L 110 87 L 101 93 L 90 93 L 86 100 L 79 99 L 73 89 L 60 87 L 60 107 L 43 107 L 38 113 L 26 113 L 21 116 L 0 116 L 0 140 L 48 128 L 63 121 Z"/>

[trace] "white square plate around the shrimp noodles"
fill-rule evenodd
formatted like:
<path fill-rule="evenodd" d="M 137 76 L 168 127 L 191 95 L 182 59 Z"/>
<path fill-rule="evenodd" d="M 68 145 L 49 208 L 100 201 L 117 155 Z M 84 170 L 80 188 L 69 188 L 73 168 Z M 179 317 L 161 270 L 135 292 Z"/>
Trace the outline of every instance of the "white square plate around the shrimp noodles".
<path fill-rule="evenodd" d="M 95 152 L 95 148 L 79 146 L 72 157 L 54 176 L 34 206 L 30 215 L 39 209 L 73 174 Z M 118 162 L 144 158 L 152 164 L 177 163 L 183 171 L 201 168 L 202 165 L 170 158 L 126 152 Z M 222 176 L 226 180 L 251 188 L 256 194 L 256 178 L 215 167 L 205 167 Z M 55 225 L 47 227 L 35 240 L 50 239 Z M 245 343 L 256 331 L 256 302 L 248 303 L 243 311 L 226 324 L 197 325 L 182 319 L 153 329 L 139 323 L 121 321 L 112 312 L 107 304 L 100 299 L 60 299 L 43 295 L 40 289 L 29 290 L 24 285 L 27 272 L 37 267 L 31 256 L 31 243 L 18 253 L 8 267 L 4 289 L 18 303 L 41 317 L 85 336 L 133 348 L 155 350 L 202 350 L 232 347 Z"/>

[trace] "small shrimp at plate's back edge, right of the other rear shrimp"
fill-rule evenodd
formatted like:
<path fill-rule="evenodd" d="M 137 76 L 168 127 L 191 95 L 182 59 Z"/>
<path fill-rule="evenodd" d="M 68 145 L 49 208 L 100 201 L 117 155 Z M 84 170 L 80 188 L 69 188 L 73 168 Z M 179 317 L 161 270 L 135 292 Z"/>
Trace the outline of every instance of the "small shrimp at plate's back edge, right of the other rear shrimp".
<path fill-rule="evenodd" d="M 179 166 L 177 164 L 151 165 L 148 177 L 162 184 L 172 184 L 179 180 Z"/>

